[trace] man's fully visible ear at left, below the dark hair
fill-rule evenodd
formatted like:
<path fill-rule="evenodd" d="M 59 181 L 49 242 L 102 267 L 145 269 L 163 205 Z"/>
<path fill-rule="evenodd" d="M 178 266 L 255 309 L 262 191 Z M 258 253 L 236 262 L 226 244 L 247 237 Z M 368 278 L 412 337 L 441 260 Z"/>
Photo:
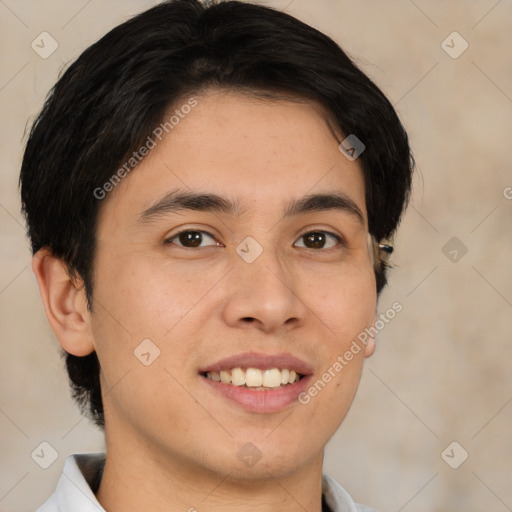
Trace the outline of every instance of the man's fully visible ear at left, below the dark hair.
<path fill-rule="evenodd" d="M 66 263 L 47 248 L 34 255 L 32 270 L 48 322 L 62 348 L 75 356 L 93 352 L 91 314 L 83 281 L 70 277 Z"/>

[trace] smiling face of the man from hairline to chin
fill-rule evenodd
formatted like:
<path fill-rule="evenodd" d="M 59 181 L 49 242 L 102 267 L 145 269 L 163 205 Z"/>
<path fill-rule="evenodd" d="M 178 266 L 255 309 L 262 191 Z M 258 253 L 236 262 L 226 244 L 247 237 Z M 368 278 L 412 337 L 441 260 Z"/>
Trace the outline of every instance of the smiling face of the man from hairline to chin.
<path fill-rule="evenodd" d="M 312 104 L 195 99 L 102 204 L 90 321 L 107 443 L 279 477 L 321 461 L 373 351 L 333 367 L 376 308 L 362 172 Z M 303 377 L 273 387 L 286 370 Z"/>

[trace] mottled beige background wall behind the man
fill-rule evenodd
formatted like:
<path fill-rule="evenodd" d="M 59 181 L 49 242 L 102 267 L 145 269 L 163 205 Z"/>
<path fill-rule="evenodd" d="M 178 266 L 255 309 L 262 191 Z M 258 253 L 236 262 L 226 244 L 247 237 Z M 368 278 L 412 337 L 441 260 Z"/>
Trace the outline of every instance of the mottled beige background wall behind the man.
<path fill-rule="evenodd" d="M 66 63 L 154 3 L 0 0 L 0 511 L 34 510 L 67 455 L 103 449 L 69 398 L 29 266 L 17 192 L 25 125 Z M 418 164 L 380 304 L 404 309 L 379 335 L 325 470 L 383 511 L 510 511 L 512 2 L 269 4 L 357 60 L 396 105 Z M 43 31 L 59 44 L 48 59 L 30 46 Z M 469 44 L 457 59 L 441 47 L 453 31 Z M 442 251 L 452 237 L 467 247 L 456 262 Z M 30 455 L 43 441 L 59 454 L 46 470 Z M 441 457 L 453 441 L 469 453 L 458 469 Z M 448 451 L 452 464 L 461 450 Z"/>

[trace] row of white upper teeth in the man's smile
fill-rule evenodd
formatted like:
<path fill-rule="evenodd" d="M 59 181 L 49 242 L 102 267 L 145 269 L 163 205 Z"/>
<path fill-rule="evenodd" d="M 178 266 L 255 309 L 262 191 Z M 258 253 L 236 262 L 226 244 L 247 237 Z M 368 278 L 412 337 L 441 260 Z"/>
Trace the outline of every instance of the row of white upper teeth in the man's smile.
<path fill-rule="evenodd" d="M 260 370 L 259 368 L 233 368 L 232 370 L 221 370 L 220 372 L 207 372 L 206 377 L 217 382 L 251 388 L 264 386 L 266 388 L 278 388 L 282 384 L 293 384 L 300 379 L 295 370 L 272 368 Z"/>

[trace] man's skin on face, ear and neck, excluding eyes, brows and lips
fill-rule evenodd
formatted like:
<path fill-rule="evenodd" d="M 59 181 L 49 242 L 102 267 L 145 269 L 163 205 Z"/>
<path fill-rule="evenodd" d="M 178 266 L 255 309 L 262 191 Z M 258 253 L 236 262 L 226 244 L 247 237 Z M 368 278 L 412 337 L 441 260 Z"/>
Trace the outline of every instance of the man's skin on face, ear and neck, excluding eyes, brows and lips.
<path fill-rule="evenodd" d="M 195 98 L 101 205 L 92 312 L 61 261 L 46 250 L 34 257 L 60 344 L 78 356 L 96 350 L 101 363 L 107 462 L 97 498 L 109 512 L 320 512 L 324 447 L 374 341 L 307 405 L 277 413 L 243 410 L 209 390 L 198 370 L 246 351 L 287 352 L 312 366 L 314 382 L 374 323 L 362 172 L 314 104 L 226 91 Z M 138 220 L 177 187 L 245 210 Z M 290 199 L 318 192 L 350 197 L 363 224 L 340 211 L 283 217 Z M 168 241 L 184 228 L 213 238 L 196 248 Z M 326 248 L 307 247 L 302 235 L 312 228 L 346 245 L 327 237 Z M 251 264 L 236 252 L 247 236 L 263 248 Z M 134 357 L 146 338 L 161 351 L 150 366 Z M 247 443 L 262 454 L 252 467 L 237 457 Z"/>

